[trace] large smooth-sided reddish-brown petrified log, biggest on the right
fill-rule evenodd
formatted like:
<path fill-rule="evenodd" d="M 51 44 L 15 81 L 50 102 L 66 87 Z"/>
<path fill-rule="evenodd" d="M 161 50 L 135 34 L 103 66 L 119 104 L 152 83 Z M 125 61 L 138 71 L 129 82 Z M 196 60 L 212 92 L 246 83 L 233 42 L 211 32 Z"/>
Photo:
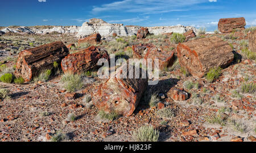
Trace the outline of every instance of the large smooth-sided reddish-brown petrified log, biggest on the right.
<path fill-rule="evenodd" d="M 225 67 L 234 59 L 232 47 L 217 36 L 191 40 L 177 46 L 181 67 L 191 75 L 203 77 L 210 68 Z"/>

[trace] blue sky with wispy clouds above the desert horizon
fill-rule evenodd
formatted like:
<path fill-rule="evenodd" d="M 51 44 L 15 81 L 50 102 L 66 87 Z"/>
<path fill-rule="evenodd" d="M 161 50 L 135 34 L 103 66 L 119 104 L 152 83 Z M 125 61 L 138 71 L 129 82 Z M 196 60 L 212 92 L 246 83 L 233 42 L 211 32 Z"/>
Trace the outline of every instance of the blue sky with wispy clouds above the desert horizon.
<path fill-rule="evenodd" d="M 254 0 L 1 0 L 0 26 L 81 26 L 90 18 L 136 26 L 217 28 L 220 18 L 256 26 Z"/>

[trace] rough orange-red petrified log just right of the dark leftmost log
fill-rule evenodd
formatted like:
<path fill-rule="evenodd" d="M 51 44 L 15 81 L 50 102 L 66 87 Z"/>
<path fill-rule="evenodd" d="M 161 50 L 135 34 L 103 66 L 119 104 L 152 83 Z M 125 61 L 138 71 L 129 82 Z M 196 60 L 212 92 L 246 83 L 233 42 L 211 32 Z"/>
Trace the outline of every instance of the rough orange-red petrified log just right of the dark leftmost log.
<path fill-rule="evenodd" d="M 61 61 L 61 68 L 64 73 L 82 73 L 98 68 L 97 62 L 101 58 L 109 60 L 108 52 L 101 50 L 100 47 L 92 46 L 66 56 Z"/>

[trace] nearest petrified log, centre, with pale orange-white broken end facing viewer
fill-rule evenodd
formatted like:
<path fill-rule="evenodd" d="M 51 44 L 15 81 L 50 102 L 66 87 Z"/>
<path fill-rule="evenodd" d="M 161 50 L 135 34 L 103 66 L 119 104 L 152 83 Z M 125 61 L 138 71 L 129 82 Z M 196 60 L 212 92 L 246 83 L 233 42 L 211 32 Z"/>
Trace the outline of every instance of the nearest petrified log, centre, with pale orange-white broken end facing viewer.
<path fill-rule="evenodd" d="M 129 66 L 127 65 L 127 70 Z M 120 115 L 130 116 L 141 101 L 148 85 L 148 78 L 141 77 L 142 71 L 144 72 L 141 68 L 139 78 L 129 78 L 130 72 L 127 72 L 126 79 L 121 78 L 123 67 L 125 66 L 117 69 L 118 77 L 112 73 L 110 78 L 98 87 L 97 93 L 93 96 L 93 103 L 106 112 L 115 111 Z M 133 73 L 135 76 L 135 69 Z"/>

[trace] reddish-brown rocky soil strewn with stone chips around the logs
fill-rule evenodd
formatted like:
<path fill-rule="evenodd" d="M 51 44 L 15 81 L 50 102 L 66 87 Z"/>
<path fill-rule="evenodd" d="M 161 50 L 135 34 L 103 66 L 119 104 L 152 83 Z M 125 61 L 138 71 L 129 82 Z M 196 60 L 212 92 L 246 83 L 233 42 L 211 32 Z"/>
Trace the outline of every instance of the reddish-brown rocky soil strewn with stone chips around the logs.
<path fill-rule="evenodd" d="M 22 85 L 0 82 L 2 89 L 10 90 L 10 98 L 0 100 L 0 141 L 50 141 L 56 133 L 65 134 L 64 141 L 134 141 L 133 131 L 144 125 L 158 129 L 159 141 L 165 142 L 255 141 L 255 92 L 241 93 L 242 84 L 256 83 L 255 60 L 248 59 L 242 53 L 244 44 L 248 42 L 247 34 L 244 31 L 233 32 L 231 37 L 230 34 L 202 34 L 192 39 L 213 35 L 229 42 L 237 55 L 228 68 L 222 69 L 220 77 L 212 83 L 205 77 L 192 77 L 184 73 L 176 61 L 172 67 L 160 73 L 159 84 L 147 87 L 133 115 L 118 117 L 114 121 L 101 119 L 97 107 L 88 107 L 83 100 L 85 94 L 93 95 L 98 85 L 106 81 L 96 76 L 83 78 L 83 87 L 76 91 L 78 97 L 75 100 L 65 97 L 67 92 L 60 82 L 61 76 L 51 77 L 46 82 L 27 82 Z M 108 46 L 115 39 L 103 38 L 98 46 L 105 47 L 109 53 L 117 53 L 117 50 Z M 170 46 L 175 51 L 177 46 L 171 42 L 170 36 L 122 39 L 130 41 L 130 47 L 139 43 L 152 43 Z M 75 34 L 2 35 L 0 60 L 13 67 L 19 51 L 57 40 L 65 44 L 77 42 Z M 185 85 L 188 81 L 198 84 L 188 89 Z M 177 88 L 188 93 L 188 100 L 172 100 L 171 92 Z M 234 94 L 234 90 L 240 96 Z M 164 105 L 148 106 L 146 99 L 152 94 L 156 94 Z M 158 110 L 162 107 L 174 110 L 174 117 L 160 117 Z M 75 121 L 68 121 L 70 113 L 76 115 Z M 213 123 L 211 118 L 221 122 Z M 234 122 L 240 128 L 234 126 Z"/>

